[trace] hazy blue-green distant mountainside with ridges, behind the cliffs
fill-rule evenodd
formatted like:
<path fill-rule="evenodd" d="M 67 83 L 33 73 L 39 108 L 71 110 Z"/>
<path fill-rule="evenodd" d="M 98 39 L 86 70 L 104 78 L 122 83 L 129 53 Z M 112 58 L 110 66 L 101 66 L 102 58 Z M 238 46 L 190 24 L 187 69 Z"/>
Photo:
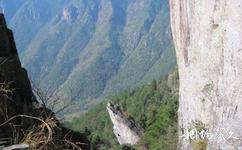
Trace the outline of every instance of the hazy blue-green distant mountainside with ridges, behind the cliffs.
<path fill-rule="evenodd" d="M 176 64 L 167 0 L 0 0 L 0 5 L 22 62 L 41 87 L 95 99 L 158 79 Z"/>

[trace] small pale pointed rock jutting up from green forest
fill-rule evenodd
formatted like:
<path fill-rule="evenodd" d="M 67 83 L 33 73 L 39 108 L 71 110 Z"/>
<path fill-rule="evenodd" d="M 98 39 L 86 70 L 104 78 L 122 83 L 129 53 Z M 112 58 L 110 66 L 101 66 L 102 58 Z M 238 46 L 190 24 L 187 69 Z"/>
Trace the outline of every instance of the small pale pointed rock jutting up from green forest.
<path fill-rule="evenodd" d="M 111 103 L 108 103 L 107 110 L 113 122 L 113 131 L 120 145 L 135 145 L 144 134 L 144 129 L 128 119 L 124 114 Z"/>

